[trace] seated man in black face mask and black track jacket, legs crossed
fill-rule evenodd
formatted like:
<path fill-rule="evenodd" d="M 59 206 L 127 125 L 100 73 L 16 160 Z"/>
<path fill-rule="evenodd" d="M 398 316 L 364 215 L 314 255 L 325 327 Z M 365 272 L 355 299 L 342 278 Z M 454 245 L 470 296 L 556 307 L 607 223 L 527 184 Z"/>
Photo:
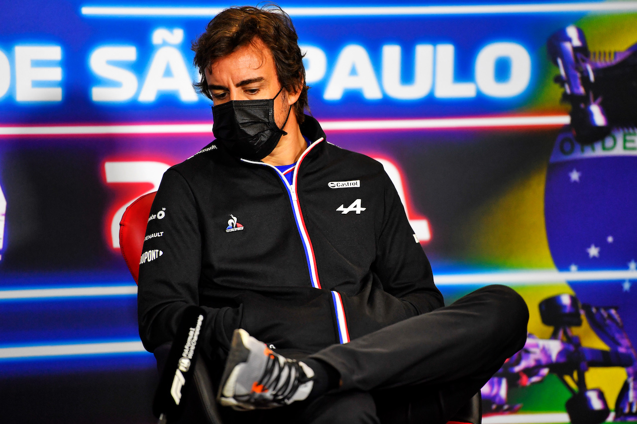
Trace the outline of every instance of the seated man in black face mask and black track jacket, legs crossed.
<path fill-rule="evenodd" d="M 450 418 L 524 345 L 524 300 L 488 286 L 443 307 L 382 165 L 303 114 L 283 11 L 224 10 L 194 51 L 216 139 L 155 197 L 147 231 L 162 236 L 144 251 L 163 254 L 140 266 L 145 347 L 171 341 L 188 306 L 206 309 L 200 343 L 227 422 Z"/>

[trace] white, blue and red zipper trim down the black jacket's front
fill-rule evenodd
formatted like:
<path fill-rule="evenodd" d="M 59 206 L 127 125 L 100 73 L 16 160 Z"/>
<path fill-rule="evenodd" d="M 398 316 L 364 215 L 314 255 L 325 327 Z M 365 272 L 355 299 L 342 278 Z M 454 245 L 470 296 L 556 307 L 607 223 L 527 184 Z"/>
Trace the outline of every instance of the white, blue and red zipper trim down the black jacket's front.
<path fill-rule="evenodd" d="M 310 240 L 310 234 L 308 233 L 307 228 L 305 227 L 305 222 L 303 220 L 303 213 L 301 213 L 301 206 L 299 205 L 299 196 L 297 195 L 297 177 L 299 174 L 299 166 L 301 166 L 301 162 L 303 162 L 304 157 L 310 152 L 310 150 L 323 141 L 323 138 L 319 138 L 317 141 L 312 143 L 308 148 L 305 149 L 299 160 L 296 162 L 296 166 L 294 166 L 294 174 L 292 174 L 292 185 L 287 183 L 287 178 L 281 171 L 279 171 L 275 166 L 270 164 L 265 164 L 264 162 L 255 162 L 253 160 L 241 159 L 243 162 L 248 162 L 250 164 L 264 165 L 271 167 L 276 171 L 279 178 L 283 181 L 283 186 L 287 189 L 287 193 L 290 197 L 290 205 L 292 206 L 292 215 L 294 215 L 294 221 L 296 222 L 296 228 L 299 231 L 299 236 L 301 236 L 301 241 L 303 242 L 303 250 L 305 251 L 305 258 L 308 262 L 308 271 L 310 271 L 310 282 L 314 288 L 320 289 L 320 280 L 318 279 L 318 270 L 317 270 L 317 262 L 316 257 L 314 255 L 314 249 L 312 247 L 312 242 Z M 349 331 L 347 329 L 347 319 L 345 318 L 345 308 L 343 307 L 343 300 L 341 299 L 341 295 L 334 290 L 331 290 L 332 300 L 334 303 L 334 316 L 336 316 L 336 326 L 338 327 L 338 339 L 340 343 L 348 343 L 350 341 Z"/>

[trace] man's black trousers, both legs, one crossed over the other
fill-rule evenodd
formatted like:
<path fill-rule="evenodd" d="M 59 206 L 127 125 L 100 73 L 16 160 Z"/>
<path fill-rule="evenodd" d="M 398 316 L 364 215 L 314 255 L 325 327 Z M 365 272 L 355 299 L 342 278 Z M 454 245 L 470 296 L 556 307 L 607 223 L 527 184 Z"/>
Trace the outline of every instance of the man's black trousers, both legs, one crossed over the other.
<path fill-rule="evenodd" d="M 511 288 L 486 286 L 310 358 L 343 385 L 267 411 L 220 408 L 225 423 L 445 423 L 526 341 L 529 311 Z"/>

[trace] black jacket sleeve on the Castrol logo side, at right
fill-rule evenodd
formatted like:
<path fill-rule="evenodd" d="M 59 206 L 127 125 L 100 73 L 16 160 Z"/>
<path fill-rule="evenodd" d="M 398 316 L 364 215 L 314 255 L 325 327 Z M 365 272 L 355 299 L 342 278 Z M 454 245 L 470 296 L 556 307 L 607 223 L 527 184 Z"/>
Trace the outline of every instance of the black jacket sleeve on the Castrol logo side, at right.
<path fill-rule="evenodd" d="M 411 304 L 415 314 L 444 306 L 431 265 L 407 220 L 394 184 L 383 171 L 385 205 L 373 271 L 385 292 Z"/>

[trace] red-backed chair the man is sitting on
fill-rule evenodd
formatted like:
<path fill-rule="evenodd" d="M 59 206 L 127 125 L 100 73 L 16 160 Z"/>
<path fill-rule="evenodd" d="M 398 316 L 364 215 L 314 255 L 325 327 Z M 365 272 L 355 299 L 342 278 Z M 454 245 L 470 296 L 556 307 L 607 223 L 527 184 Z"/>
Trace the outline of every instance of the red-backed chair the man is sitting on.
<path fill-rule="evenodd" d="M 120 248 L 126 265 L 129 271 L 131 271 L 132 278 L 135 279 L 135 283 L 138 283 L 139 280 L 141 251 L 144 244 L 144 237 L 146 236 L 148 216 L 150 216 L 150 208 L 155 199 L 155 194 L 157 194 L 157 192 L 145 194 L 132 202 L 131 206 L 124 211 L 124 215 L 120 221 Z M 165 344 L 157 348 L 157 351 L 154 352 L 155 358 L 157 358 L 157 367 L 160 370 L 163 368 L 161 365 L 168 356 L 168 351 L 169 344 Z M 203 414 L 203 418 L 208 424 L 222 424 L 217 410 L 217 403 L 215 402 L 215 394 L 213 393 L 210 374 L 203 360 L 196 362 L 194 379 L 195 388 L 198 393 L 199 408 L 201 409 L 201 411 L 199 411 L 199 417 Z M 192 398 L 192 396 L 190 398 Z M 192 402 L 192 399 L 189 399 L 189 401 Z M 190 420 L 189 418 L 184 418 L 184 422 L 194 422 L 194 420 Z M 481 423 L 482 398 L 480 397 L 480 392 L 478 392 L 447 424 Z"/>

